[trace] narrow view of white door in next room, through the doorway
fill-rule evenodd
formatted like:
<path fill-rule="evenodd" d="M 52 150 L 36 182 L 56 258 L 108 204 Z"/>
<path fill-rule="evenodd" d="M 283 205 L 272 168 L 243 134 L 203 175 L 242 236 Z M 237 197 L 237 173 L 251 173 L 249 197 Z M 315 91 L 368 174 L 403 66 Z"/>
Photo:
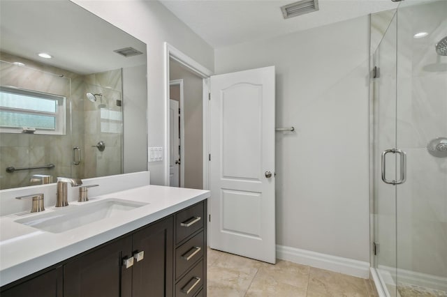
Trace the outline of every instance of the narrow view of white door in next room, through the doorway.
<path fill-rule="evenodd" d="M 169 185 L 179 187 L 180 184 L 180 139 L 179 139 L 179 102 L 169 100 Z"/>

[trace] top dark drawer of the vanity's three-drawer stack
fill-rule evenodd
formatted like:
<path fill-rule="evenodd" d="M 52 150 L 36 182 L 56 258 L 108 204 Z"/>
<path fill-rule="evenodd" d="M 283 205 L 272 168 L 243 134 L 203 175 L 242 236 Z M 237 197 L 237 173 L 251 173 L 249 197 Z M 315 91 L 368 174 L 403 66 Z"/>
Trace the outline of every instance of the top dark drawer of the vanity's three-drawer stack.
<path fill-rule="evenodd" d="M 183 241 L 186 237 L 203 227 L 203 202 L 186 208 L 175 215 L 175 243 Z"/>

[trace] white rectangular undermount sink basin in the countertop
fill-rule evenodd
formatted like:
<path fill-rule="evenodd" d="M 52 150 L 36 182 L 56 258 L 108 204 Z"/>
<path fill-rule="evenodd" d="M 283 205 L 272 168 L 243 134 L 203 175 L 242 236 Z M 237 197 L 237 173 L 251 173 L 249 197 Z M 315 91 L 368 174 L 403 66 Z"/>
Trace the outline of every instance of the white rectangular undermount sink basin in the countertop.
<path fill-rule="evenodd" d="M 85 205 L 57 209 L 50 213 L 33 215 L 29 218 L 15 220 L 15 222 L 52 233 L 61 233 L 91 222 L 120 215 L 147 204 L 122 199 L 104 199 Z"/>

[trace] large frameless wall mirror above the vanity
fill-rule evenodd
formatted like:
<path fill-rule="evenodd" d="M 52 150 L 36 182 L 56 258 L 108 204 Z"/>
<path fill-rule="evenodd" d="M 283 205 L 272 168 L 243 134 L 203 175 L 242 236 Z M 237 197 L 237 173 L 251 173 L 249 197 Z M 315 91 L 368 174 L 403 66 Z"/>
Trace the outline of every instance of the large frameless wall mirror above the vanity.
<path fill-rule="evenodd" d="M 147 170 L 146 59 L 71 1 L 2 0 L 0 189 Z"/>

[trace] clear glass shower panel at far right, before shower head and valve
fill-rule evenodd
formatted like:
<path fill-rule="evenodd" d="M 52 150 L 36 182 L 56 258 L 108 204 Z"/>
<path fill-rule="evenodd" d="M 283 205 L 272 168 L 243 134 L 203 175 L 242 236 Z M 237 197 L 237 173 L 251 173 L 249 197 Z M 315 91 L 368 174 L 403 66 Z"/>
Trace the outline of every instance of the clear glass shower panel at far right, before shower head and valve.
<path fill-rule="evenodd" d="M 436 145 L 447 139 L 447 51 L 436 48 L 446 36 L 447 1 L 400 3 L 396 129 L 408 160 L 406 182 L 396 187 L 402 297 L 447 296 L 447 154 Z"/>

